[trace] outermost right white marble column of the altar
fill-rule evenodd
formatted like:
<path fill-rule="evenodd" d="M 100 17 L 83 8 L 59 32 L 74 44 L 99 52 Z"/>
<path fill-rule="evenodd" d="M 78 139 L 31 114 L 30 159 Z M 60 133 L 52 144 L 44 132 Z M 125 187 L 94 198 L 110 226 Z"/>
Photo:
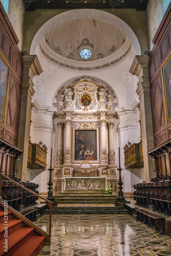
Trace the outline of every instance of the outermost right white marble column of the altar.
<path fill-rule="evenodd" d="M 109 164 L 115 164 L 115 150 L 114 150 L 114 131 L 113 131 L 113 127 L 114 127 L 114 122 L 109 122 L 108 123 L 108 128 L 109 128 Z"/>

